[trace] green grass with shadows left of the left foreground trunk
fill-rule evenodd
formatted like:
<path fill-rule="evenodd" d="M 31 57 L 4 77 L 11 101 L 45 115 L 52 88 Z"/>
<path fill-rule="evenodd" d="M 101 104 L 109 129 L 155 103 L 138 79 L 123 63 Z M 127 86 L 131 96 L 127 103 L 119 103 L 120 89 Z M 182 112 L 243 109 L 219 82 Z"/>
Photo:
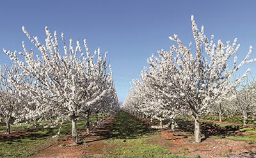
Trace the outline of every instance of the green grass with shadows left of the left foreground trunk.
<path fill-rule="evenodd" d="M 95 120 L 92 118 L 91 121 Z M 39 122 L 38 122 L 39 123 Z M 32 124 L 32 123 L 31 123 Z M 11 130 L 17 131 L 22 130 L 22 132 L 27 132 L 19 137 L 13 137 L 8 140 L 0 140 L 0 157 L 28 157 L 30 155 L 36 154 L 42 148 L 47 147 L 54 141 L 58 141 L 59 138 L 65 136 L 66 134 L 72 133 L 72 124 L 70 122 L 65 123 L 61 126 L 60 135 L 56 138 L 52 138 L 58 133 L 59 127 L 54 128 L 43 128 L 30 127 L 31 124 L 22 124 L 20 126 L 12 125 Z M 1 123 L 0 133 L 5 133 L 5 124 Z M 77 130 L 84 130 L 86 127 L 85 120 L 77 121 Z"/>

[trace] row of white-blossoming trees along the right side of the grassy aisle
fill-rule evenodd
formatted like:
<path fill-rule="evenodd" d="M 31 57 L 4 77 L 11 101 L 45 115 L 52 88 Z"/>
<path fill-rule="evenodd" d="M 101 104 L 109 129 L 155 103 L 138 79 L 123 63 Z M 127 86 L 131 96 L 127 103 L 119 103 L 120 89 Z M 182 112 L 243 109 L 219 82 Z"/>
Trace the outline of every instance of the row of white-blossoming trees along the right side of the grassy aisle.
<path fill-rule="evenodd" d="M 239 49 L 237 39 L 225 45 L 221 40 L 214 43 L 214 36 L 208 38 L 204 27 L 199 30 L 193 15 L 191 16 L 192 32 L 195 39 L 193 46 L 182 44 L 177 34 L 170 37 L 177 45 L 170 51 L 157 51 L 150 57 L 148 68 L 141 71 L 141 78 L 133 80 L 133 87 L 124 101 L 123 110 L 140 112 L 156 119 L 173 120 L 178 115 L 192 115 L 195 120 L 195 141 L 201 141 L 200 118 L 220 103 L 248 74 L 250 68 L 241 78 L 234 82 L 231 79 L 246 62 L 252 53 L 250 47 L 243 61 L 237 64 Z M 231 68 L 230 59 L 234 56 Z"/>

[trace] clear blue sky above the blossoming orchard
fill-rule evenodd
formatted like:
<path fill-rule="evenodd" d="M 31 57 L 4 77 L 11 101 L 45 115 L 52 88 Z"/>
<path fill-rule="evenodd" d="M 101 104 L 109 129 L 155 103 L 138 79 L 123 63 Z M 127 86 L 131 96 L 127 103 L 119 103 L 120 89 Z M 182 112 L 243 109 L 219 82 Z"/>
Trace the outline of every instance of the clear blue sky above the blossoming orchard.
<path fill-rule="evenodd" d="M 168 36 L 179 34 L 184 44 L 193 41 L 191 15 L 205 34 L 222 41 L 238 38 L 242 59 L 253 46 L 256 57 L 256 1 L 0 1 L 0 48 L 22 50 L 29 43 L 21 27 L 32 36 L 45 38 L 44 27 L 84 38 L 93 50 L 108 51 L 108 59 L 120 101 L 124 101 L 132 78 L 138 78 L 147 58 L 156 50 L 168 50 Z M 0 51 L 0 64 L 10 64 Z M 255 72 L 255 64 L 252 74 Z M 245 69 L 245 68 L 244 68 Z"/>

